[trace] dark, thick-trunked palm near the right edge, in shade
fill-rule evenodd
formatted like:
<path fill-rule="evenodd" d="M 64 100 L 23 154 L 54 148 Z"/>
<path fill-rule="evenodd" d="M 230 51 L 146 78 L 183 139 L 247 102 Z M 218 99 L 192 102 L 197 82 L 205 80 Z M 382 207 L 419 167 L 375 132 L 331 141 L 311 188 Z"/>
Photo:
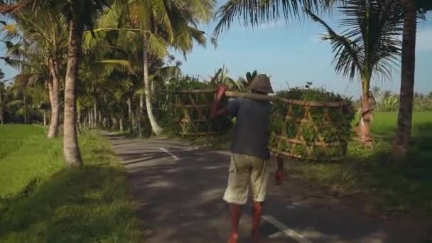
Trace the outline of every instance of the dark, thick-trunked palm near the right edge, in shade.
<path fill-rule="evenodd" d="M 414 106 L 414 73 L 416 69 L 416 33 L 418 11 L 425 13 L 432 9 L 430 0 L 400 0 L 406 13 L 402 38 L 401 92 L 397 120 L 396 140 L 392 157 L 404 160 L 411 139 L 411 121 Z"/>

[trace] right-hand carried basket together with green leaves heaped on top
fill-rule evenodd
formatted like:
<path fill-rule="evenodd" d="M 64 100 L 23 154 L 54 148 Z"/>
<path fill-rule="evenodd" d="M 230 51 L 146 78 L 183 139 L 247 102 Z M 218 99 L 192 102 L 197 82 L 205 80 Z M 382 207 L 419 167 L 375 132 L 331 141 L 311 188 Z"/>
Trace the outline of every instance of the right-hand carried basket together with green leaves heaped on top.
<path fill-rule="evenodd" d="M 294 88 L 276 96 L 270 119 L 270 147 L 274 153 L 294 158 L 330 161 L 345 156 L 354 110 L 350 100 L 317 88 Z M 324 103 L 337 102 L 333 107 Z M 345 105 L 342 105 L 344 103 Z"/>

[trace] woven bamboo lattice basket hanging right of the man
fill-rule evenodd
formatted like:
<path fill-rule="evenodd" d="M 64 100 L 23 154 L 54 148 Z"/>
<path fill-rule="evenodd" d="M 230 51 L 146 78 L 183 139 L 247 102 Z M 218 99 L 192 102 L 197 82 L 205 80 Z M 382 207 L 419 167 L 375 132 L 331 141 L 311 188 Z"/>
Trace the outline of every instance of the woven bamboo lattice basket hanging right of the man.
<path fill-rule="evenodd" d="M 347 139 L 343 134 L 350 133 L 350 124 L 330 114 L 343 114 L 350 104 L 294 99 L 279 99 L 279 102 L 286 106 L 286 113 L 271 114 L 272 121 L 282 123 L 279 129 L 271 131 L 269 144 L 272 153 L 313 161 L 340 161 L 346 156 Z M 297 112 L 293 112 L 294 109 Z M 321 115 L 314 117 L 317 110 Z"/>

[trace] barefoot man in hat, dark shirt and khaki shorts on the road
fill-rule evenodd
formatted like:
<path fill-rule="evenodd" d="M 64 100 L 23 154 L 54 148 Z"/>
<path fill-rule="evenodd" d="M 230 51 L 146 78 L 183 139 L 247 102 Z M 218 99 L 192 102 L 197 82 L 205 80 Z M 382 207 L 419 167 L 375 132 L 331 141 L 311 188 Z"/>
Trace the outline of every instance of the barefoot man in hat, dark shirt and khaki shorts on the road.
<path fill-rule="evenodd" d="M 245 205 L 252 192 L 252 239 L 259 237 L 261 222 L 261 204 L 266 199 L 269 173 L 269 115 L 271 103 L 248 98 L 234 99 L 227 107 L 220 108 L 220 101 L 227 87 L 220 86 L 215 102 L 212 104 L 210 117 L 229 115 L 236 117 L 234 136 L 232 138 L 232 156 L 229 166 L 228 185 L 224 200 L 229 204 L 232 228 L 228 242 L 236 243 L 239 237 L 239 220 L 241 205 Z M 257 75 L 251 85 L 251 92 L 258 95 L 273 93 L 270 79 L 267 75 Z M 276 182 L 281 184 L 283 178 L 283 160 L 278 158 Z"/>

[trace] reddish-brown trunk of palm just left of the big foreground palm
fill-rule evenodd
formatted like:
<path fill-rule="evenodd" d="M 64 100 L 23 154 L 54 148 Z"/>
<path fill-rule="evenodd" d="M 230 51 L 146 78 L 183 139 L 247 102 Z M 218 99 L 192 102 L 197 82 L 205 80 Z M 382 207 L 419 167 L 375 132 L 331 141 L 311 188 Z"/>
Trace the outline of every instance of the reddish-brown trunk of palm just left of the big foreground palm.
<path fill-rule="evenodd" d="M 51 119 L 47 136 L 49 139 L 52 139 L 58 135 L 58 127 L 60 126 L 60 85 L 57 60 L 50 59 L 49 66 L 52 79 L 52 82 L 48 81 L 48 92 L 50 92 L 51 103 Z"/>

